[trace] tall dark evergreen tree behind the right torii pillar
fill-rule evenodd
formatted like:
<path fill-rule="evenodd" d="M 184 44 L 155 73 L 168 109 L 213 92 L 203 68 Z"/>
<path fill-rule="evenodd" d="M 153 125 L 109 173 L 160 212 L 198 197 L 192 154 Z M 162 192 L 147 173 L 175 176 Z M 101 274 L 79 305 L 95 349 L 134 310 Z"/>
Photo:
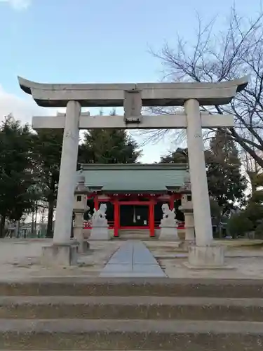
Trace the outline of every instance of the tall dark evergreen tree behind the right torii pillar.
<path fill-rule="evenodd" d="M 188 150 L 178 148 L 161 158 L 163 163 L 188 163 Z M 221 233 L 223 216 L 229 215 L 234 204 L 244 198 L 246 179 L 241 174 L 241 161 L 234 141 L 222 131 L 217 131 L 205 151 L 211 215 Z"/>

